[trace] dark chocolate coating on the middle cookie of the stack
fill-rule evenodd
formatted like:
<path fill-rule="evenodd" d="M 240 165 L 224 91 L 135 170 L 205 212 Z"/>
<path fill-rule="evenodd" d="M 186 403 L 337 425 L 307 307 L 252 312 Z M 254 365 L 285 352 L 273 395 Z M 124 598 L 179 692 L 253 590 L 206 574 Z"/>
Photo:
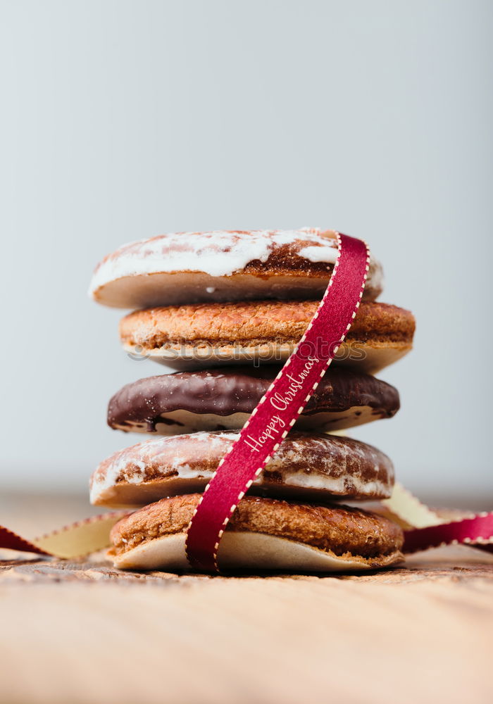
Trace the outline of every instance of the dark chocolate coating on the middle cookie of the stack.
<path fill-rule="evenodd" d="M 155 432 L 162 415 L 175 410 L 219 416 L 251 413 L 275 379 L 278 367 L 223 367 L 139 379 L 120 389 L 108 404 L 108 425 L 145 424 Z M 369 406 L 375 415 L 392 417 L 399 392 L 370 375 L 330 367 L 308 401 L 304 415 Z"/>

